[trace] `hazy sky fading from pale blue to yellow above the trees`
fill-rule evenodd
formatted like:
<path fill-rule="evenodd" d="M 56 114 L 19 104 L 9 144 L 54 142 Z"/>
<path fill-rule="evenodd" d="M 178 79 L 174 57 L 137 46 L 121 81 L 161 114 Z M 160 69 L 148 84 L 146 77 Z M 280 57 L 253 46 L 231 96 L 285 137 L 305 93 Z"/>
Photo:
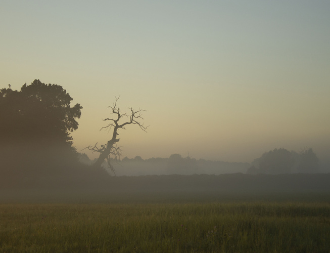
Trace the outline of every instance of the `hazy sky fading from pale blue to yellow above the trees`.
<path fill-rule="evenodd" d="M 83 106 L 78 151 L 102 118 L 147 110 L 123 156 L 247 161 L 330 154 L 330 1 L 0 2 L 0 88 L 56 83 Z M 86 152 L 89 156 L 90 153 Z"/>

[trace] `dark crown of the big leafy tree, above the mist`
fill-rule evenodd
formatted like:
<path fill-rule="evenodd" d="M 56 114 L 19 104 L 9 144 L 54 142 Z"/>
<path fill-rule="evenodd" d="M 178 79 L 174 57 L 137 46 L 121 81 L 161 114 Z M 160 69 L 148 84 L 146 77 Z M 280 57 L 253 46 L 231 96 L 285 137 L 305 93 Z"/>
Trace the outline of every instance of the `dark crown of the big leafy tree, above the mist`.
<path fill-rule="evenodd" d="M 20 91 L 0 91 L 0 134 L 7 143 L 25 141 L 67 142 L 78 128 L 80 104 L 70 107 L 73 99 L 59 85 L 34 80 Z"/>

